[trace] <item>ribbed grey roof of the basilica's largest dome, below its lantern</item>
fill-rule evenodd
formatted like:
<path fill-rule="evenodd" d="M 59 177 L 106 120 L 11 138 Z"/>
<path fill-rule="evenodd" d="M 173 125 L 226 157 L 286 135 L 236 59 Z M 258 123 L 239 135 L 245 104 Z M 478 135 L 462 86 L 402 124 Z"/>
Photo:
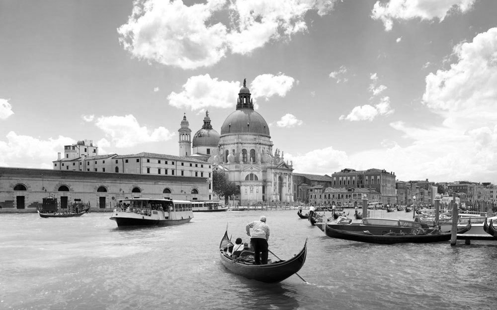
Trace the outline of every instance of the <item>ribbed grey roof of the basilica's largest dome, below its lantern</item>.
<path fill-rule="evenodd" d="M 240 133 L 271 137 L 264 118 L 252 109 L 240 109 L 233 112 L 221 126 L 222 136 Z"/>

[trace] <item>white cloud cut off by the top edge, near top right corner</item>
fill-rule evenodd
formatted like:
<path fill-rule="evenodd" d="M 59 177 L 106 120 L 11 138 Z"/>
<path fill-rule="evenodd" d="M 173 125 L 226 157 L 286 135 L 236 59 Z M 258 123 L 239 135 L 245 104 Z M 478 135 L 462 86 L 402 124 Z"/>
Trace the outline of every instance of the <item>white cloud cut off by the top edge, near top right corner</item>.
<path fill-rule="evenodd" d="M 453 11 L 462 13 L 473 6 L 475 0 L 390 0 L 387 3 L 377 1 L 372 10 L 371 17 L 380 19 L 386 31 L 392 30 L 394 20 L 409 20 L 419 18 L 444 20 L 447 14 Z"/>

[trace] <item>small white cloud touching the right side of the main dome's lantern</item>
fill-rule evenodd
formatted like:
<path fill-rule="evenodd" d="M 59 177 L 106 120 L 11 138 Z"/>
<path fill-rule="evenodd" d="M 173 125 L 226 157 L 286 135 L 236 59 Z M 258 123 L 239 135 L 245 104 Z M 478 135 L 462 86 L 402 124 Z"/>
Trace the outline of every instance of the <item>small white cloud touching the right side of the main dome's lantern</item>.
<path fill-rule="evenodd" d="M 250 92 L 253 98 L 264 97 L 266 100 L 274 95 L 285 97 L 286 93 L 292 89 L 294 82 L 293 77 L 281 72 L 278 75 L 261 74 L 250 83 Z"/>

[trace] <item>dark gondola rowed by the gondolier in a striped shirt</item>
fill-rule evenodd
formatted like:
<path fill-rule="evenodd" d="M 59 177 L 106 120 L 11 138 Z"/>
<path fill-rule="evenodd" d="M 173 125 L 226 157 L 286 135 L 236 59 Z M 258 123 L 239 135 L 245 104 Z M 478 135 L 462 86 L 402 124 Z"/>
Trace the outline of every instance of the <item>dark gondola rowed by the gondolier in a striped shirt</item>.
<path fill-rule="evenodd" d="M 265 283 L 278 283 L 286 278 L 296 274 L 304 265 L 307 256 L 307 239 L 304 248 L 289 260 L 279 260 L 266 265 L 248 265 L 233 260 L 227 253 L 227 249 L 232 245 L 228 238 L 228 231 L 224 233 L 221 244 L 219 245 L 219 254 L 221 263 L 234 274 Z M 248 251 L 244 251 L 248 252 Z M 244 252 L 240 256 L 244 255 Z M 250 253 L 250 252 L 248 252 Z"/>

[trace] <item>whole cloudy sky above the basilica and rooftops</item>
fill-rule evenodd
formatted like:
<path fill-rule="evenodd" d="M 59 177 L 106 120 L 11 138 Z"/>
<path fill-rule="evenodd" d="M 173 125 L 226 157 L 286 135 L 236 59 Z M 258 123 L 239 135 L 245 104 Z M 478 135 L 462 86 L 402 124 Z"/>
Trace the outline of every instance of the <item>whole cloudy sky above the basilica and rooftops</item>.
<path fill-rule="evenodd" d="M 294 173 L 497 184 L 497 1 L 0 0 L 0 166 L 178 155 L 244 78 Z"/>

